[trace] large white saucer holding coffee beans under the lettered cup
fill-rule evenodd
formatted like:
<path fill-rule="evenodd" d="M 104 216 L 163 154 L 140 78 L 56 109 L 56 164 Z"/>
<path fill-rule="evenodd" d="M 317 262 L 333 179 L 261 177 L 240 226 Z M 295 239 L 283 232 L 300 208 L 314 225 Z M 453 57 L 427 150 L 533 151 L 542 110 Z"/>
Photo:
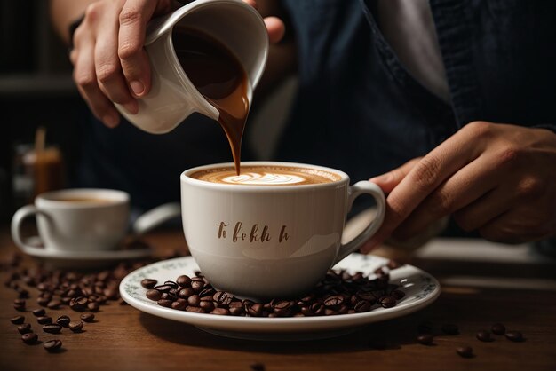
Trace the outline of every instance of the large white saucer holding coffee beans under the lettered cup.
<path fill-rule="evenodd" d="M 372 275 L 379 266 L 387 262 L 383 257 L 352 254 L 334 268 Z M 255 318 L 218 316 L 164 308 L 147 299 L 147 290 L 140 284 L 140 281 L 146 278 L 159 282 L 176 280 L 181 274 L 194 275 L 197 270 L 199 267 L 193 257 L 176 257 L 149 264 L 131 272 L 122 280 L 120 295 L 139 311 L 186 322 L 215 335 L 256 340 L 307 340 L 344 335 L 371 322 L 390 320 L 416 312 L 433 303 L 441 292 L 440 284 L 433 276 L 406 264 L 390 272 L 390 281 L 400 285 L 406 294 L 393 308 L 377 308 L 371 312 L 328 317 Z"/>

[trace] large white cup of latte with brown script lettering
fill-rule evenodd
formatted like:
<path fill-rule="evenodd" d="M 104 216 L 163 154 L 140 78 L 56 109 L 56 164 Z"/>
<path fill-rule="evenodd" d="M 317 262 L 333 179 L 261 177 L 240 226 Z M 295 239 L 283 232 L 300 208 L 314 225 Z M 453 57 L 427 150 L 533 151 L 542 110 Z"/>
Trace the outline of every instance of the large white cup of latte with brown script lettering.
<path fill-rule="evenodd" d="M 183 229 L 201 272 L 219 290 L 250 299 L 292 297 L 314 288 L 382 224 L 380 187 L 346 173 L 292 162 L 213 164 L 181 174 Z M 342 244 L 353 201 L 369 194 L 376 217 Z"/>

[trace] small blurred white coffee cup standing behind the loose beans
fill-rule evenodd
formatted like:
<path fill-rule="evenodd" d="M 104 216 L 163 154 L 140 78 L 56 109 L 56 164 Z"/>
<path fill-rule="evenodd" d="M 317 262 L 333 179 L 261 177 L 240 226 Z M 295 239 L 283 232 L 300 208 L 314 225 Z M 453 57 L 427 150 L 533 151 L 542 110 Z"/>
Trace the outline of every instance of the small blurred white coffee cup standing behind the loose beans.
<path fill-rule="evenodd" d="M 109 189 L 67 189 L 42 193 L 34 205 L 12 217 L 13 241 L 23 249 L 36 249 L 21 238 L 21 224 L 36 215 L 44 249 L 60 252 L 116 249 L 127 233 L 130 216 L 128 193 Z"/>

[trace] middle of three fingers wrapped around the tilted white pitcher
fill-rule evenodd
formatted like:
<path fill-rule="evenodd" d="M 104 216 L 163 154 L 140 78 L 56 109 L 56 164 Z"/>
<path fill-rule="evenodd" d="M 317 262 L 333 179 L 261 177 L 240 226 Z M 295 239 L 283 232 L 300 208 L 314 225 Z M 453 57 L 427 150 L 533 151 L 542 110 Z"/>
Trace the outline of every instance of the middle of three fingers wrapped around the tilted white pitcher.
<path fill-rule="evenodd" d="M 130 114 L 137 114 L 139 105 L 133 97 L 123 76 L 118 58 L 118 19 L 117 14 L 105 18 L 99 25 L 95 44 L 95 73 L 99 88 L 108 99 L 121 104 Z"/>

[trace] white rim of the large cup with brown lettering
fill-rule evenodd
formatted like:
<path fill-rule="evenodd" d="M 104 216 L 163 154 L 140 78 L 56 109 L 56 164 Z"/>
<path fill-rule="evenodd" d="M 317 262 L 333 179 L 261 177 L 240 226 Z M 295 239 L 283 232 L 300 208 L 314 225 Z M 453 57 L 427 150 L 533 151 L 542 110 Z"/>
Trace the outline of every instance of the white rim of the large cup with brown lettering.
<path fill-rule="evenodd" d="M 195 173 L 196 171 L 200 170 L 210 170 L 215 168 L 222 168 L 222 167 L 230 167 L 234 166 L 234 162 L 221 162 L 221 163 L 211 163 L 207 165 L 196 166 L 195 168 L 187 169 L 181 173 L 179 176 L 180 181 L 182 184 L 187 183 L 194 186 L 203 186 L 203 187 L 210 187 L 210 188 L 218 188 L 218 189 L 230 189 L 234 190 L 234 192 L 291 192 L 294 190 L 299 191 L 300 189 L 307 189 L 307 188 L 329 188 L 329 187 L 338 187 L 344 184 L 349 184 L 349 176 L 341 170 L 329 168 L 326 166 L 321 165 L 314 165 L 309 163 L 301 163 L 301 162 L 276 162 L 276 161 L 248 161 L 242 162 L 242 166 L 290 166 L 294 168 L 309 168 L 309 169 L 316 169 L 331 172 L 333 174 L 338 175 L 340 178 L 338 180 L 332 180 L 327 183 L 317 183 L 317 184 L 310 184 L 310 185 L 290 185 L 290 186 L 259 186 L 259 185 L 225 185 L 220 183 L 211 183 L 204 180 L 199 180 L 195 178 L 191 178 L 190 175 Z"/>

